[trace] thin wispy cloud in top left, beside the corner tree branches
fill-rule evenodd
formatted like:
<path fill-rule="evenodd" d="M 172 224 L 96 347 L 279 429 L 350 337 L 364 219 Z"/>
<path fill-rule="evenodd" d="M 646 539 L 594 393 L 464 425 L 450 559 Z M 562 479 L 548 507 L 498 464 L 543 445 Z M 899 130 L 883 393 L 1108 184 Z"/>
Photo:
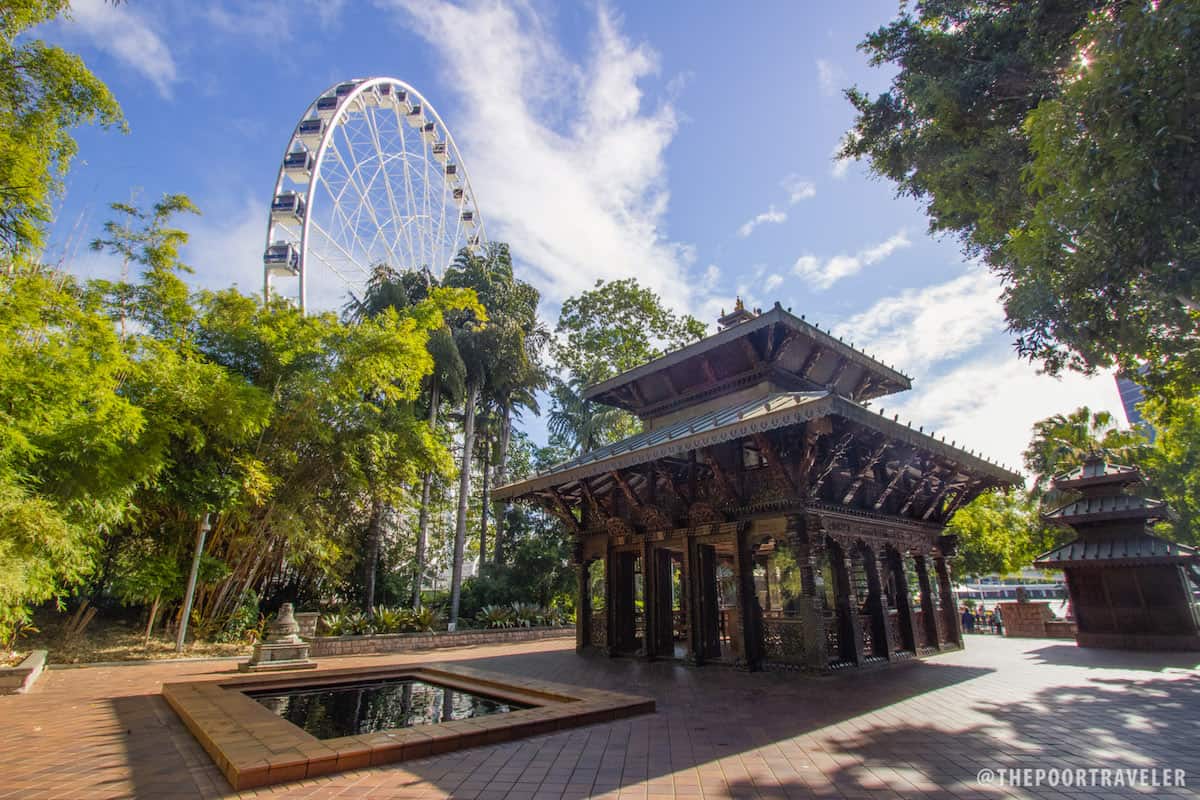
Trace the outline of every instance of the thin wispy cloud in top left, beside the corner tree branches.
<path fill-rule="evenodd" d="M 94 47 L 142 73 L 158 94 L 170 97 L 179 78 L 170 48 L 150 22 L 130 6 L 112 6 L 103 0 L 73 0 L 68 32 L 88 38 Z"/>

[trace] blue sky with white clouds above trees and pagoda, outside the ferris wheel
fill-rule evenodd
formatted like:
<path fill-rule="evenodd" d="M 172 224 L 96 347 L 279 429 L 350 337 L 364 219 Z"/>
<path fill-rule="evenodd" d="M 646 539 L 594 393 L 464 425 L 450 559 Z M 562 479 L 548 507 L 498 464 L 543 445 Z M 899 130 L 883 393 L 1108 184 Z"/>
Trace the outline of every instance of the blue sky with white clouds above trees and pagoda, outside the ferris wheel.
<path fill-rule="evenodd" d="M 551 323 L 600 278 L 636 276 L 709 324 L 736 295 L 779 300 L 914 378 L 889 413 L 1009 464 L 1043 416 L 1120 413 L 1110 375 L 1019 361 L 998 283 L 833 158 L 852 121 L 840 90 L 888 80 L 857 43 L 895 0 L 73 6 L 40 35 L 84 56 L 131 128 L 78 137 L 49 257 L 80 275 L 115 269 L 85 247 L 108 201 L 186 192 L 204 211 L 188 221 L 196 283 L 256 291 L 296 119 L 330 84 L 390 76 L 454 132 L 488 235 Z"/>

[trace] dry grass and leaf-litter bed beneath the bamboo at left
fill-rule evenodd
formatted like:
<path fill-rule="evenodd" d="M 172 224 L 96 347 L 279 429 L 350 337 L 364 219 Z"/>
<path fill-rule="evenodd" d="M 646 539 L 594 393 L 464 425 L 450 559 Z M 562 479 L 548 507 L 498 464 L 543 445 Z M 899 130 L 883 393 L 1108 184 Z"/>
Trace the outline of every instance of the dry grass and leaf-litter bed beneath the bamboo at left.
<path fill-rule="evenodd" d="M 65 620 L 65 615 L 64 615 Z M 181 654 L 175 652 L 175 640 L 156 634 L 149 646 L 142 645 L 145 628 L 121 620 L 97 616 L 73 640 L 65 642 L 61 634 L 62 620 L 38 620 L 41 630 L 20 639 L 28 650 L 49 650 L 50 663 L 95 663 L 97 661 L 142 661 L 145 658 L 194 658 L 198 656 L 250 655 L 251 645 L 244 642 L 216 644 L 188 642 Z"/>

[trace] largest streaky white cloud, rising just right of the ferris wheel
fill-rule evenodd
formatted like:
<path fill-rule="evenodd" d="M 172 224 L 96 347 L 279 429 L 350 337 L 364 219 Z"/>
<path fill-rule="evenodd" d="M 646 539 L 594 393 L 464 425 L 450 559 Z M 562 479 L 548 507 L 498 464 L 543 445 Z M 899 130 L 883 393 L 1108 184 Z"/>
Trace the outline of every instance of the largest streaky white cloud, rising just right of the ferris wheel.
<path fill-rule="evenodd" d="M 677 115 L 643 95 L 658 72 L 653 50 L 625 37 L 602 5 L 583 62 L 559 49 L 530 6 L 388 5 L 440 56 L 457 108 L 426 91 L 452 112 L 444 116 L 488 235 L 511 242 L 548 301 L 636 275 L 667 305 L 697 307 L 689 249 L 662 230 Z"/>

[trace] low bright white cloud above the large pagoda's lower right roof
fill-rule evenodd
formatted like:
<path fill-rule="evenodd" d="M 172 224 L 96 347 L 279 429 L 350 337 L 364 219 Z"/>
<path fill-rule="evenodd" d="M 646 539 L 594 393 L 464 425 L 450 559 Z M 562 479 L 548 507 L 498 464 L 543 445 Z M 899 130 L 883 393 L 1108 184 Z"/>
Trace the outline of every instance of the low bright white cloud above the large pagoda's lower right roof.
<path fill-rule="evenodd" d="M 913 366 L 919 371 L 922 365 Z M 1038 420 L 1080 405 L 1123 419 L 1112 375 L 1038 374 L 1007 344 L 932 380 L 923 381 L 918 374 L 912 392 L 875 403 L 886 407 L 888 416 L 899 413 L 913 427 L 924 425 L 926 432 L 1016 469 Z"/>

